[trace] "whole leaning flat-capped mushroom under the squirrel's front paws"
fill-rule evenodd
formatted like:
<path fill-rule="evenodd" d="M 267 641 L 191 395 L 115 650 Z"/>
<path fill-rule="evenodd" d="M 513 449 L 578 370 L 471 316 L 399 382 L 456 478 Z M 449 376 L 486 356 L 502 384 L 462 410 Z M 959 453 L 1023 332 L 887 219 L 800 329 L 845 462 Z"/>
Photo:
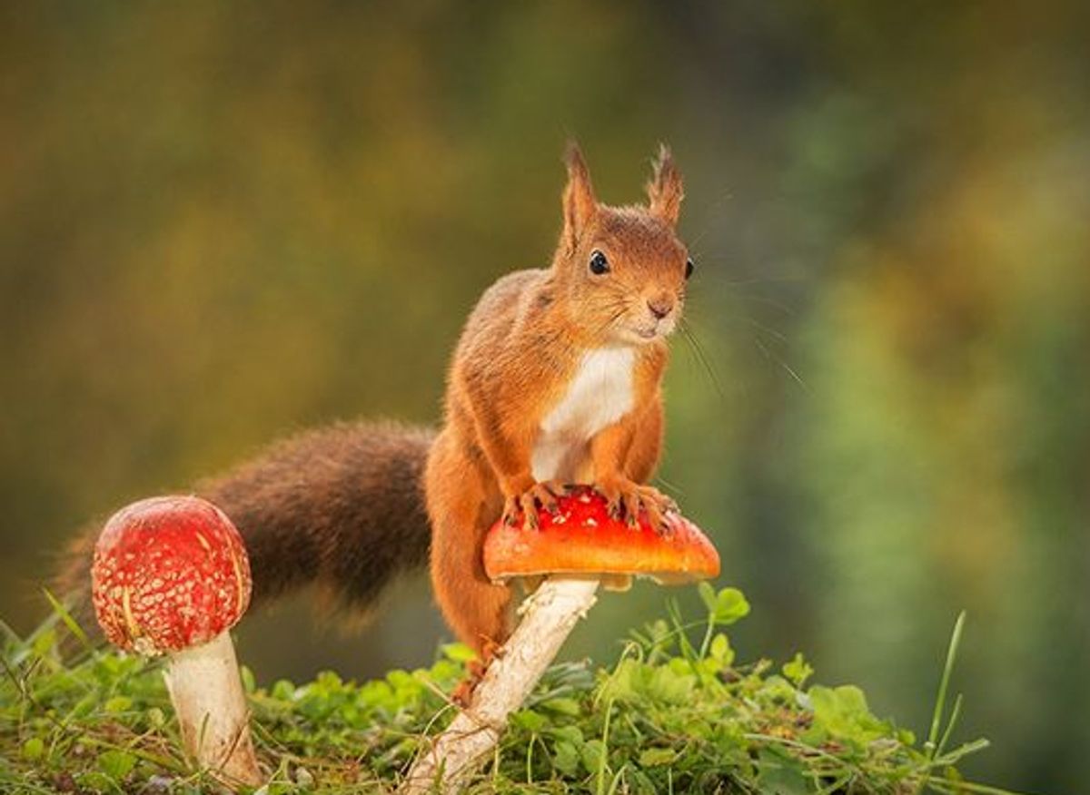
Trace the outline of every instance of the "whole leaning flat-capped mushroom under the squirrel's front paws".
<path fill-rule="evenodd" d="M 522 619 L 488 665 L 467 709 L 417 757 L 403 793 L 457 792 L 496 746 L 507 715 L 518 709 L 568 634 L 594 606 L 600 585 L 627 587 L 632 576 L 681 585 L 719 574 L 719 555 L 691 522 L 669 512 L 662 533 L 645 513 L 635 526 L 609 515 L 604 497 L 580 486 L 542 509 L 538 529 L 502 521 L 484 542 L 484 567 L 494 580 L 547 577 L 522 603 Z M 622 588 L 620 588 L 622 589 Z"/>

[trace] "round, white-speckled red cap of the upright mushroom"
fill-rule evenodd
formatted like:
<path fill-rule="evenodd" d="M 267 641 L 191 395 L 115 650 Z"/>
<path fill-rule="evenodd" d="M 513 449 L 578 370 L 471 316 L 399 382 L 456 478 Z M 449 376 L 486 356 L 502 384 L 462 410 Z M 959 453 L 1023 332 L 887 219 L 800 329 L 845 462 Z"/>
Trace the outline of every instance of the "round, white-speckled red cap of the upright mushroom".
<path fill-rule="evenodd" d="M 206 644 L 250 604 L 242 538 L 198 497 L 153 497 L 113 514 L 95 546 L 90 578 L 106 637 L 142 655 Z"/>

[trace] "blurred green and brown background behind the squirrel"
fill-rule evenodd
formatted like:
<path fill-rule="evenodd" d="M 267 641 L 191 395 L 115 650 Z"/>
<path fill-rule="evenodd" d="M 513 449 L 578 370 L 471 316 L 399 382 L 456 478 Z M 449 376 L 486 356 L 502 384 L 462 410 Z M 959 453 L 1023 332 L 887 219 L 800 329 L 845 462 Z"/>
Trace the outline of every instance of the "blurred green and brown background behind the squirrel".
<path fill-rule="evenodd" d="M 1090 780 L 1086 3 L 4 3 L 0 615 L 66 535 L 294 429 L 436 421 L 481 291 L 600 197 L 687 175 L 662 468 L 753 615 L 925 731 L 958 610 L 969 771 Z M 608 659 L 664 592 L 607 597 Z M 686 594 L 686 599 L 691 595 Z M 251 616 L 263 682 L 446 633 Z"/>

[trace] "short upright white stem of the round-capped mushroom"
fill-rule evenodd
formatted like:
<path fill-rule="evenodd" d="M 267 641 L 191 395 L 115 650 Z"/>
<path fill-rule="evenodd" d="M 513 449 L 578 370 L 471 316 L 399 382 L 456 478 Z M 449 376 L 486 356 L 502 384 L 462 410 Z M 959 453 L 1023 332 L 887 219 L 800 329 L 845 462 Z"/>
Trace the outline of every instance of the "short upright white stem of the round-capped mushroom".
<path fill-rule="evenodd" d="M 225 784 L 259 785 L 250 711 L 230 634 L 172 653 L 164 677 L 186 753 Z"/>

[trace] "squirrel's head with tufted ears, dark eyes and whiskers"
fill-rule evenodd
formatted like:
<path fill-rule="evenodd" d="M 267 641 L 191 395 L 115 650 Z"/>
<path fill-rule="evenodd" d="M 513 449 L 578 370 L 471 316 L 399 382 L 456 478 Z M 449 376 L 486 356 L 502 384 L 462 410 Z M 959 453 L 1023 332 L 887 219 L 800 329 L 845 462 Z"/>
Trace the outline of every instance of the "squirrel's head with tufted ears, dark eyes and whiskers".
<path fill-rule="evenodd" d="M 568 145 L 564 230 L 553 281 L 570 319 L 594 344 L 645 344 L 677 327 L 692 260 L 677 237 L 685 195 L 670 150 L 659 147 L 647 204 L 609 207 L 594 197 L 579 147 Z"/>

